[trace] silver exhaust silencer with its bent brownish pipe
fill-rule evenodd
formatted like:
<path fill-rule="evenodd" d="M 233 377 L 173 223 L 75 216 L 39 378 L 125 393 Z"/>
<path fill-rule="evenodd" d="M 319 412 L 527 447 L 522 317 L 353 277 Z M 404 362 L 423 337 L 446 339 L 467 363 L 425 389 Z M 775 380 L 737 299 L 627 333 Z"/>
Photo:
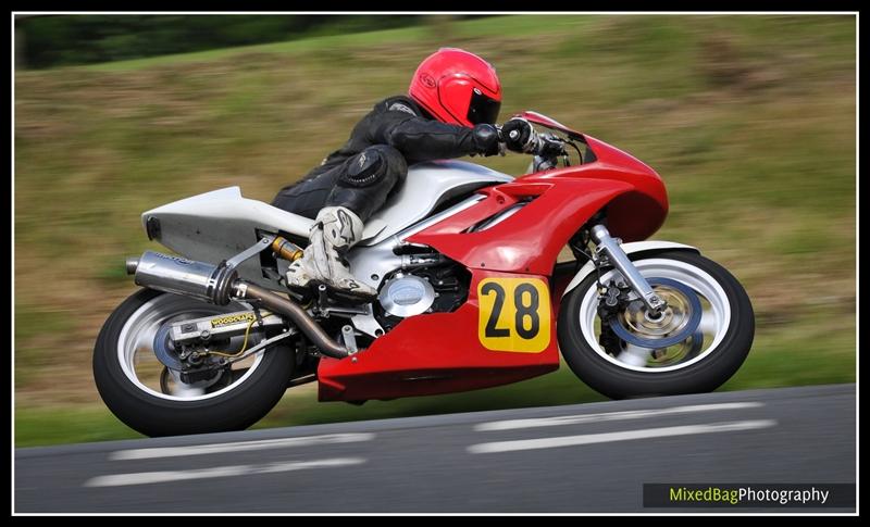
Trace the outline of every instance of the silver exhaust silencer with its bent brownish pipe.
<path fill-rule="evenodd" d="M 239 299 L 259 300 L 273 313 L 281 313 L 293 321 L 324 355 L 344 359 L 350 353 L 335 342 L 298 304 L 262 287 L 238 278 L 235 269 L 225 263 L 212 265 L 179 256 L 146 251 L 141 258 L 127 259 L 128 274 L 134 274 L 138 286 L 192 297 L 217 305 L 229 303 L 231 296 Z"/>

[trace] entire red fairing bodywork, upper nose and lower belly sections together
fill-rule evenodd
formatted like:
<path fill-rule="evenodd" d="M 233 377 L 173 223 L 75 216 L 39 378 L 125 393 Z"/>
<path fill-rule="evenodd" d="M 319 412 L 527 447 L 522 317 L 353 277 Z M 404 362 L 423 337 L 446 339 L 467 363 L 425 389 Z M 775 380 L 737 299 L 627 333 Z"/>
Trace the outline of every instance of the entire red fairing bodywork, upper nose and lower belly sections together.
<path fill-rule="evenodd" d="M 548 278 L 576 230 L 606 209 L 608 228 L 624 241 L 648 238 L 668 213 L 664 185 L 649 166 L 589 136 L 538 114 L 530 121 L 584 140 L 596 160 L 550 170 L 481 190 L 478 203 L 408 238 L 435 248 L 472 274 L 469 298 L 452 313 L 412 316 L 352 357 L 323 357 L 320 400 L 355 401 L 427 396 L 487 388 L 535 377 L 559 367 L 556 315 L 570 278 L 555 277 L 549 343 L 536 353 L 487 349 L 478 337 L 477 285 L 494 277 Z M 546 121 L 545 121 L 546 120 Z M 465 233 L 521 201 L 527 204 L 497 225 Z"/>

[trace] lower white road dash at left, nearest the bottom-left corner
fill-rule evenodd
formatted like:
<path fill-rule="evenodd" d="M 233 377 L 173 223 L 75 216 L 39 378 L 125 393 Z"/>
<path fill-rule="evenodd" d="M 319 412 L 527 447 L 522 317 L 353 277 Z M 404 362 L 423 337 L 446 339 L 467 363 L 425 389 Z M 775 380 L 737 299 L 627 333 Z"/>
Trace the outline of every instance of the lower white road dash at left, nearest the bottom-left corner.
<path fill-rule="evenodd" d="M 268 463 L 264 465 L 219 466 L 196 470 L 161 470 L 133 474 L 112 474 L 97 476 L 85 482 L 85 487 L 121 487 L 128 485 L 163 484 L 184 481 L 187 479 L 223 478 L 231 476 L 251 476 L 278 472 L 302 470 L 307 468 L 332 468 L 338 466 L 359 465 L 365 463 L 362 457 L 336 457 L 332 460 L 294 461 Z"/>

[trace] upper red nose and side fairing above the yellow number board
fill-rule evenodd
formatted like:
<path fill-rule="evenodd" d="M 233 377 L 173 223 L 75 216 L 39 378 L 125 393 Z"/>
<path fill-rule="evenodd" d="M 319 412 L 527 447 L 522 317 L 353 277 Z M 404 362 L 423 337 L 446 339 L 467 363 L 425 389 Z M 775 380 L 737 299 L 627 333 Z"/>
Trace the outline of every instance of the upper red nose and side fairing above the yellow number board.
<path fill-rule="evenodd" d="M 434 247 L 468 267 L 549 276 L 559 251 L 607 206 L 608 227 L 624 241 L 648 238 L 668 214 L 664 185 L 652 168 L 585 136 L 597 160 L 539 172 L 485 189 L 478 204 L 408 240 Z M 504 222 L 463 233 L 522 200 L 531 202 Z"/>

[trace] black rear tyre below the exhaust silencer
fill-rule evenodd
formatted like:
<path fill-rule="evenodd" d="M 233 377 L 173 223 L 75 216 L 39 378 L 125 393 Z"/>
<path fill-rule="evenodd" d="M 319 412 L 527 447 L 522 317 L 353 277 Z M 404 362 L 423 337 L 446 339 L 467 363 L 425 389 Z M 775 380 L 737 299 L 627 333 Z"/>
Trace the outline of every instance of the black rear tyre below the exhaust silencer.
<path fill-rule="evenodd" d="M 293 374 L 289 349 L 266 351 L 250 377 L 236 388 L 199 401 L 173 401 L 138 388 L 124 374 L 117 342 L 127 319 L 162 294 L 142 289 L 109 316 L 94 348 L 94 380 L 103 402 L 130 428 L 151 437 L 241 430 L 260 421 L 281 400 Z"/>

